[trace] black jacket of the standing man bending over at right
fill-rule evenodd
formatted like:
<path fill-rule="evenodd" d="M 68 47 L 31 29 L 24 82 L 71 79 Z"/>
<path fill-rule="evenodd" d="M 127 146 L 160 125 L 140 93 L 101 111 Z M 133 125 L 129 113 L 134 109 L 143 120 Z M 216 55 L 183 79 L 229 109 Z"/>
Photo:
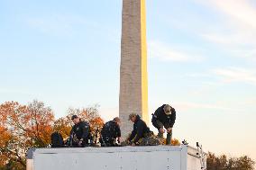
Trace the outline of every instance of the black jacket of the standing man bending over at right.
<path fill-rule="evenodd" d="M 167 115 L 163 108 L 166 104 L 163 104 L 160 106 L 153 114 L 152 114 L 152 124 L 154 127 L 156 127 L 158 130 L 161 128 L 160 125 L 157 123 L 157 121 L 160 121 L 164 126 L 167 126 L 165 128 L 172 128 L 175 120 L 176 120 L 176 111 L 174 108 L 171 109 L 171 114 Z"/>

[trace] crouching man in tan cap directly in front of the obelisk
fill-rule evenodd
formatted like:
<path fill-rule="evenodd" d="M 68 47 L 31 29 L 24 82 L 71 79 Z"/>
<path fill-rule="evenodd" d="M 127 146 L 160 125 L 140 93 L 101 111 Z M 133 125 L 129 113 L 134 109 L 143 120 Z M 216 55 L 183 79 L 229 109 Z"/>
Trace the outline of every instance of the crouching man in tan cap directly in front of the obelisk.
<path fill-rule="evenodd" d="M 142 121 L 141 117 L 135 113 L 129 115 L 129 121 L 133 121 L 133 131 L 128 139 L 132 146 L 139 145 L 139 140 L 148 137 L 151 130 L 147 127 L 146 123 Z"/>

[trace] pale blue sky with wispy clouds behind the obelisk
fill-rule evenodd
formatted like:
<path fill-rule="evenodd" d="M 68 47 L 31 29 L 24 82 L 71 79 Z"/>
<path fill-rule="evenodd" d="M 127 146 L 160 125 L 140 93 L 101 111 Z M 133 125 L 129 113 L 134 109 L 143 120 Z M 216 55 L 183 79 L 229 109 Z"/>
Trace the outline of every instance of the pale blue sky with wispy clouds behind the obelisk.
<path fill-rule="evenodd" d="M 0 103 L 118 115 L 121 14 L 121 0 L 0 0 Z M 255 21 L 253 0 L 147 1 L 150 113 L 175 107 L 175 138 L 256 159 Z"/>

